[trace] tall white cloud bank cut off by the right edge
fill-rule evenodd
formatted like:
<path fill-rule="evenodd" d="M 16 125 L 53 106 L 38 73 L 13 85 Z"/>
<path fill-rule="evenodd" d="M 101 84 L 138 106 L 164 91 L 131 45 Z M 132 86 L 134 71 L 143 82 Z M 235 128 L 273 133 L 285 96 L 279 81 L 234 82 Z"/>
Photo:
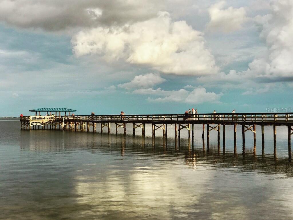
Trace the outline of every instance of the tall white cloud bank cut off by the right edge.
<path fill-rule="evenodd" d="M 248 64 L 247 70 L 231 70 L 228 74 L 221 72 L 214 78 L 203 76 L 198 78 L 198 82 L 293 81 L 293 1 L 273 0 L 270 11 L 270 14 L 255 17 L 266 48 Z"/>

